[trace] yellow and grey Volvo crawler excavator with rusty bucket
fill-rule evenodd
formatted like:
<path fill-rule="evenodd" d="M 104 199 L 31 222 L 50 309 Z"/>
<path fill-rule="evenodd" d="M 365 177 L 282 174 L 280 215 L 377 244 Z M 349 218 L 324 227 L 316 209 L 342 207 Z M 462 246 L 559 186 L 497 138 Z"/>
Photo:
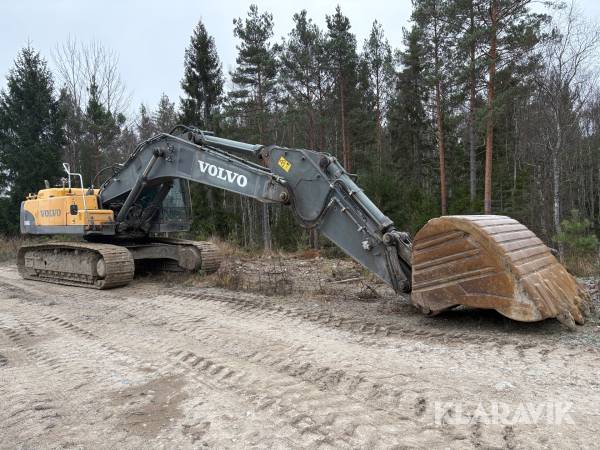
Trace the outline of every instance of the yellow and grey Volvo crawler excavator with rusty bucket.
<path fill-rule="evenodd" d="M 443 216 L 413 240 L 328 153 L 236 142 L 178 125 L 142 142 L 97 189 L 63 166 L 62 186 L 46 182 L 22 202 L 21 232 L 83 239 L 23 245 L 23 278 L 108 289 L 129 283 L 141 264 L 216 271 L 221 256 L 213 243 L 161 237 L 189 230 L 194 182 L 285 205 L 302 227 L 318 229 L 397 293 L 410 293 L 427 315 L 462 305 L 517 321 L 556 318 L 575 328 L 590 313 L 586 291 L 521 223 Z"/>

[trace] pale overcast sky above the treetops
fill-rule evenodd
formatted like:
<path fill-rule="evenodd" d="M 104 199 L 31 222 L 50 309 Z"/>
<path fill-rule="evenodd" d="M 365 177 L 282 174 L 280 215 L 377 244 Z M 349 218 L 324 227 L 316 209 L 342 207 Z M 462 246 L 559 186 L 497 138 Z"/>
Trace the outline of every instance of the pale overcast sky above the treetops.
<path fill-rule="evenodd" d="M 178 103 L 183 55 L 198 19 L 214 36 L 227 73 L 236 55 L 233 18 L 245 17 L 251 3 L 273 14 L 277 41 L 291 30 L 300 9 L 325 27 L 325 15 L 340 4 L 359 48 L 375 19 L 392 47 L 401 47 L 411 10 L 410 0 L 0 0 L 0 88 L 28 40 L 52 67 L 54 48 L 72 36 L 98 40 L 117 52 L 130 110 L 141 102 L 154 108 L 162 92 Z M 586 15 L 600 16 L 600 1 L 580 0 L 579 5 Z"/>

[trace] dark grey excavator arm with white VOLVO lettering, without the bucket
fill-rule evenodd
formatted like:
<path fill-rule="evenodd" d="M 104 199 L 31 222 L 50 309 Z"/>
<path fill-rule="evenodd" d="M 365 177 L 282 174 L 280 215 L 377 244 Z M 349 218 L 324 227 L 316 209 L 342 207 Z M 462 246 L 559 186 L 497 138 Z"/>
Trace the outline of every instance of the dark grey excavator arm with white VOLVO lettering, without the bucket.
<path fill-rule="evenodd" d="M 139 214 L 135 220 L 130 217 L 146 187 L 159 186 L 159 201 L 174 179 L 185 179 L 286 205 L 301 226 L 317 228 L 397 292 L 410 291 L 408 234 L 394 228 L 336 158 L 312 150 L 239 143 L 187 127 L 181 131 L 143 143 L 101 187 L 102 205 L 116 212 L 117 234 L 142 233 L 152 221 L 151 213 L 141 215 L 145 221 Z"/>

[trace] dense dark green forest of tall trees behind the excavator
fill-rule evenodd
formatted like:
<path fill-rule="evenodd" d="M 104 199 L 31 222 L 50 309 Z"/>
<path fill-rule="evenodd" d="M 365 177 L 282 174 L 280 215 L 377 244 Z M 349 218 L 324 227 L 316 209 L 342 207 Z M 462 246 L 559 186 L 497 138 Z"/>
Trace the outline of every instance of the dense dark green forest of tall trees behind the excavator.
<path fill-rule="evenodd" d="M 199 21 L 185 49 L 178 107 L 163 95 L 130 118 L 101 83 L 102 74 L 119 80 L 114 53 L 98 43 L 77 53 L 67 43 L 55 93 L 45 62 L 26 47 L 0 95 L 0 231 L 15 231 L 19 201 L 44 179 L 57 181 L 60 160 L 89 183 L 141 140 L 184 123 L 328 152 L 358 174 L 397 228 L 413 233 L 440 215 L 442 200 L 449 214 L 483 212 L 487 153 L 494 213 L 522 221 L 567 257 L 594 253 L 600 96 L 591 59 L 600 32 L 557 2 L 549 2 L 551 15 L 530 0 L 412 3 L 401 49 L 377 21 L 357 45 L 339 6 L 323 29 L 300 10 L 275 44 L 273 16 L 251 5 L 233 20 L 237 57 L 227 92 L 216 43 Z M 105 70 L 86 72 L 90 55 Z M 69 78 L 64 62 L 77 57 L 79 72 Z M 283 207 L 200 185 L 191 192 L 197 237 L 267 249 L 319 244 Z M 565 221 L 562 211 L 571 209 L 578 213 Z"/>

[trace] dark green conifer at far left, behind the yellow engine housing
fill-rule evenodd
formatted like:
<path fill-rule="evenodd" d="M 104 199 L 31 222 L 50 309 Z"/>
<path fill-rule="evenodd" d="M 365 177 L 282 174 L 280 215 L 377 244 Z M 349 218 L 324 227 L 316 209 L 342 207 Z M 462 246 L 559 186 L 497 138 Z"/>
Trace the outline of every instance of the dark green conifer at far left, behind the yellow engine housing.
<path fill-rule="evenodd" d="M 10 199 L 4 210 L 10 231 L 18 226 L 25 195 L 60 176 L 62 125 L 52 74 L 40 54 L 27 46 L 0 93 L 0 192 Z"/>

